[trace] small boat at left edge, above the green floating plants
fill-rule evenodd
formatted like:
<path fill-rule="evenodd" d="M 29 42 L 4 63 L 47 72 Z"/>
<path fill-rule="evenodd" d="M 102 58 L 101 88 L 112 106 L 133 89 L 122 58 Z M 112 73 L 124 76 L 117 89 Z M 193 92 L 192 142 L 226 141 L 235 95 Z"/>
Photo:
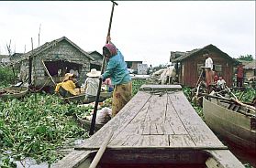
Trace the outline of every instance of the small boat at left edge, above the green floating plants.
<path fill-rule="evenodd" d="M 4 89 L 0 89 L 0 99 L 8 100 L 15 98 L 22 98 L 28 93 L 27 87 L 7 87 Z"/>

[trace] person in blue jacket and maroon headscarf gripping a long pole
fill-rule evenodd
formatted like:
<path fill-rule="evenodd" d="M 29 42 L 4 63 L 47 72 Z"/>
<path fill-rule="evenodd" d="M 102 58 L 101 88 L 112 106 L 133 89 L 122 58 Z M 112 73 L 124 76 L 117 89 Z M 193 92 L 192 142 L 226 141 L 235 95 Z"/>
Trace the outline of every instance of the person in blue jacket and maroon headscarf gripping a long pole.
<path fill-rule="evenodd" d="M 112 85 L 115 86 L 112 100 L 112 117 L 114 117 L 131 99 L 132 83 L 124 56 L 111 42 L 110 37 L 106 37 L 106 40 L 108 44 L 103 47 L 103 54 L 109 61 L 106 72 L 100 78 L 103 81 L 110 78 Z"/>

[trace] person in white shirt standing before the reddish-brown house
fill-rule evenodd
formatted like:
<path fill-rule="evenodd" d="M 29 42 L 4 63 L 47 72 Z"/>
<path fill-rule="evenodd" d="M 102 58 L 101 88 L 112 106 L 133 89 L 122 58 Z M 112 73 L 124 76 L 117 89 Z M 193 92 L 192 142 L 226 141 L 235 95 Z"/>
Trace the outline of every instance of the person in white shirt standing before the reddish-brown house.
<path fill-rule="evenodd" d="M 203 51 L 203 57 L 206 58 L 206 89 L 210 93 L 211 84 L 214 83 L 213 60 L 209 57 L 209 51 L 206 49 Z"/>

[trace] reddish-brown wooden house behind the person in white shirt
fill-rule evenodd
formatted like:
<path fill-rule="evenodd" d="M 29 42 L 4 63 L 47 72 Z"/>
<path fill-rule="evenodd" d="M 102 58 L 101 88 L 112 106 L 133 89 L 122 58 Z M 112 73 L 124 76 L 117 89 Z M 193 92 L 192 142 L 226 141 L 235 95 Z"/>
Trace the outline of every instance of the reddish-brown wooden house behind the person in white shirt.
<path fill-rule="evenodd" d="M 204 49 L 210 52 L 217 75 L 222 76 L 229 87 L 232 86 L 233 68 L 238 64 L 238 60 L 229 57 L 227 53 L 212 44 L 192 51 L 171 51 L 170 61 L 175 64 L 179 82 L 184 86 L 195 87 L 201 74 L 201 67 L 205 67 L 206 59 L 202 54 Z"/>

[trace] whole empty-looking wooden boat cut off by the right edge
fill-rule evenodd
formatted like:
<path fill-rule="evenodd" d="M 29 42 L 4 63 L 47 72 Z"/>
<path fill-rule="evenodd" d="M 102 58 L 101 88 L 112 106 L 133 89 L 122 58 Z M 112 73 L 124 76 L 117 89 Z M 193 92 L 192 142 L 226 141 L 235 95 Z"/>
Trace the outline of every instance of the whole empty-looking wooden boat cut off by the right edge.
<path fill-rule="evenodd" d="M 256 112 L 253 106 L 239 104 L 223 97 L 203 99 L 206 124 L 222 138 L 256 153 Z"/>

